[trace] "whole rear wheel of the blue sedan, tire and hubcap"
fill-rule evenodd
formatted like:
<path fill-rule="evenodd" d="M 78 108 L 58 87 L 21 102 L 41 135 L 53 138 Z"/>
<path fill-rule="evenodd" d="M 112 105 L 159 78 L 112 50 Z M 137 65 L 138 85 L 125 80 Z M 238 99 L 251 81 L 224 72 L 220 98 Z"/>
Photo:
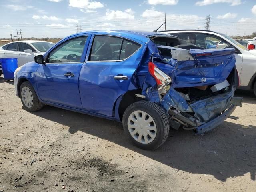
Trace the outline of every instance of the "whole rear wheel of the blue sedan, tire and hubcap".
<path fill-rule="evenodd" d="M 163 108 L 148 101 L 138 101 L 125 110 L 123 128 L 138 148 L 154 150 L 169 134 L 168 116 Z"/>

